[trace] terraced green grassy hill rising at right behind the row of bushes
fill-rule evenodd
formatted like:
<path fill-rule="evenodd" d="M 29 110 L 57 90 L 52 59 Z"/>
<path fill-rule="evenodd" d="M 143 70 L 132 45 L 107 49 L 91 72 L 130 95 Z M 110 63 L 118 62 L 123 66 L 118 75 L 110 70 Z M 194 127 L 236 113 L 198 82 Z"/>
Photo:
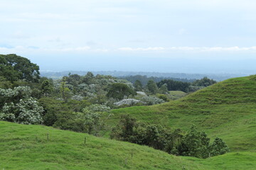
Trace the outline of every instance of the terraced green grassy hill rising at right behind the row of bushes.
<path fill-rule="evenodd" d="M 221 137 L 232 152 L 256 150 L 256 76 L 228 79 L 177 101 L 112 111 L 114 126 L 121 114 L 171 128 L 195 124 L 210 137 Z"/>

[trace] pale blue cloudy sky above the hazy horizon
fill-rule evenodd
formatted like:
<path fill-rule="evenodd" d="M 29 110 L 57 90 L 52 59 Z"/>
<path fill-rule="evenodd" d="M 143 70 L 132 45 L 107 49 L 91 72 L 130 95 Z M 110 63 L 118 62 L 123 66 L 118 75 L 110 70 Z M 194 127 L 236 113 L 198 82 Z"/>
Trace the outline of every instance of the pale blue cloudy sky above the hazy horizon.
<path fill-rule="evenodd" d="M 0 0 L 0 54 L 49 71 L 256 74 L 255 0 Z"/>

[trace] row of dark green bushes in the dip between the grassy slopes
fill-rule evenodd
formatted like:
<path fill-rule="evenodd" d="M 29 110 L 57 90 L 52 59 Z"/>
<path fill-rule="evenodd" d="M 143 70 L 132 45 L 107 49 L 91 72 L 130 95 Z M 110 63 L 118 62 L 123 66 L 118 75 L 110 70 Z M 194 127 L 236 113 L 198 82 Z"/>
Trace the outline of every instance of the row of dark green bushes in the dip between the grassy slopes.
<path fill-rule="evenodd" d="M 229 152 L 229 148 L 220 138 L 210 144 L 206 132 L 199 132 L 195 126 L 189 132 L 180 129 L 174 131 L 161 125 L 144 125 L 129 115 L 122 115 L 119 124 L 112 129 L 112 139 L 147 145 L 161 149 L 169 154 L 207 158 Z"/>

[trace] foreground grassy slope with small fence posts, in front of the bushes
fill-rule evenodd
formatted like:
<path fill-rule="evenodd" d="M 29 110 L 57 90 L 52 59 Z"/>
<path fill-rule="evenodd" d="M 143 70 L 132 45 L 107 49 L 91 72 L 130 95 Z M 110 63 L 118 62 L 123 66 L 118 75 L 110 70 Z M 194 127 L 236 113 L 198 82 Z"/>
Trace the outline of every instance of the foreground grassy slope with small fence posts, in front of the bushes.
<path fill-rule="evenodd" d="M 47 141 L 47 134 L 49 140 Z M 84 145 L 84 137 L 87 142 Z M 175 157 L 149 147 L 0 121 L 0 169 L 254 169 L 256 153 L 210 159 Z M 131 157 L 131 151 L 134 154 Z"/>

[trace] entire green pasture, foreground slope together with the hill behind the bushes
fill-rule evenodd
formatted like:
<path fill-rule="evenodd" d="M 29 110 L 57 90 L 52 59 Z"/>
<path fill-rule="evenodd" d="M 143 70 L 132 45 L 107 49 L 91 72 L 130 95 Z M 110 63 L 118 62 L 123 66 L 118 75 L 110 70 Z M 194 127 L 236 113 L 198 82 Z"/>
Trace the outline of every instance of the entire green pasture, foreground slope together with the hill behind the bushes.
<path fill-rule="evenodd" d="M 228 79 L 169 103 L 113 110 L 109 128 L 122 114 L 172 129 L 195 124 L 223 138 L 231 152 L 176 157 L 104 137 L 0 121 L 0 169 L 255 169 L 256 76 Z"/>

